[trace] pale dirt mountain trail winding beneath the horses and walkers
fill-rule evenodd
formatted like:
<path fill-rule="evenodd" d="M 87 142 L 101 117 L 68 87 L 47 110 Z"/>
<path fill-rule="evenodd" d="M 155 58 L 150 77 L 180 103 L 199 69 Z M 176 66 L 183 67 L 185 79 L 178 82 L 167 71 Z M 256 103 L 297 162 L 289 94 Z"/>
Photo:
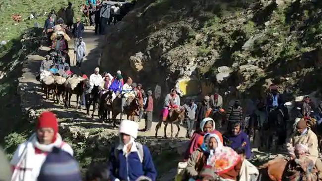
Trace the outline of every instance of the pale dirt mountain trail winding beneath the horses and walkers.
<path fill-rule="evenodd" d="M 71 59 L 71 70 L 75 72 L 76 74 L 80 75 L 81 71 L 84 71 L 86 75 L 89 77 L 95 67 L 98 66 L 98 60 L 100 58 L 100 43 L 104 40 L 104 36 L 99 36 L 94 34 L 94 29 L 93 27 L 86 27 L 85 32 L 83 33 L 83 41 L 86 43 L 86 56 L 84 58 L 84 62 L 82 65 L 82 68 L 79 69 L 76 67 L 76 60 L 74 61 L 74 40 L 72 39 L 69 42 L 69 55 Z M 60 104 L 54 104 L 52 101 L 52 98 L 50 100 L 45 100 L 44 99 L 44 94 L 41 91 L 41 85 L 39 82 L 36 80 L 36 75 L 39 70 L 40 62 L 42 60 L 41 56 L 44 56 L 46 54 L 46 51 L 48 51 L 48 47 L 41 47 L 39 51 L 39 55 L 33 55 L 32 57 L 29 58 L 29 65 L 28 68 L 25 69 L 24 75 L 23 75 L 23 81 L 24 83 L 28 83 L 29 85 L 32 85 L 30 88 L 33 89 L 34 94 L 31 94 L 32 97 L 30 96 L 30 99 L 28 98 L 28 106 L 27 107 L 32 107 L 33 109 L 37 111 L 44 111 L 44 110 L 50 110 L 54 112 L 57 117 L 59 118 L 60 122 L 64 122 L 67 124 L 70 124 L 72 126 L 79 126 L 83 128 L 108 128 L 111 129 L 111 131 L 117 131 L 112 129 L 110 123 L 100 123 L 100 120 L 98 120 L 98 113 L 97 111 L 95 112 L 94 116 L 95 119 L 91 119 L 90 117 L 86 116 L 86 110 L 82 109 L 81 111 L 76 111 L 75 106 L 76 106 L 76 95 L 73 95 L 71 98 L 71 105 L 72 108 L 66 109 L 64 105 L 62 104 L 62 99 L 60 100 Z M 104 69 L 100 70 L 100 73 L 104 72 Z M 125 71 L 126 70 L 121 70 Z M 92 107 L 91 107 L 92 108 Z M 160 110 L 155 110 L 155 111 L 160 111 Z M 92 113 L 92 110 L 90 111 Z M 125 118 L 125 117 L 124 117 Z M 117 120 L 117 123 L 119 123 L 119 117 Z M 157 119 L 154 118 L 154 121 L 152 123 L 152 128 L 149 132 L 139 132 L 139 135 L 141 136 L 148 136 L 148 137 L 153 137 L 155 134 L 155 127 L 157 124 Z M 143 129 L 145 126 L 145 120 L 142 119 L 139 122 L 140 129 Z M 177 132 L 177 128 L 174 125 L 174 132 L 173 136 Z M 170 129 L 171 126 L 169 125 L 167 127 L 167 136 L 170 136 Z M 186 134 L 186 128 L 181 127 L 179 137 L 184 138 Z M 164 125 L 162 124 L 162 127 L 159 129 L 159 137 L 164 136 Z"/>

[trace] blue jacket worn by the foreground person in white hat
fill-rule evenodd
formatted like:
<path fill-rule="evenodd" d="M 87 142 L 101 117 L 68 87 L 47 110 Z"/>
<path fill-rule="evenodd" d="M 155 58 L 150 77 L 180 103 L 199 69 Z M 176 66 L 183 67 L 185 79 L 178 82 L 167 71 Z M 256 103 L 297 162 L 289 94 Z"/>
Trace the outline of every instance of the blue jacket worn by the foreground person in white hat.
<path fill-rule="evenodd" d="M 114 148 L 116 149 L 116 148 Z M 140 162 L 138 152 L 131 152 L 127 158 L 123 155 L 123 150 L 119 150 L 117 159 L 114 149 L 111 150 L 109 157 L 110 179 L 115 181 L 135 181 L 140 176 L 149 177 L 152 181 L 156 180 L 157 171 L 154 167 L 152 156 L 149 149 L 143 145 L 143 162 Z"/>

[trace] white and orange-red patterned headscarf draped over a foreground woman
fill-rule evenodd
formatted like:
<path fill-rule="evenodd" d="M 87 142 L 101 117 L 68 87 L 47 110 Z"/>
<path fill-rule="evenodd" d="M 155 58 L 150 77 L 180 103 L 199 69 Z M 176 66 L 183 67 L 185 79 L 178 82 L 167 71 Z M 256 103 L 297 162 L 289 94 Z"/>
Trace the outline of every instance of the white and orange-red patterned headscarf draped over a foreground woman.
<path fill-rule="evenodd" d="M 215 150 L 210 150 L 207 159 L 207 165 L 213 167 L 216 174 L 224 174 L 237 165 L 240 161 L 240 156 L 232 148 L 223 146 L 219 136 L 216 134 L 209 135 L 208 138 L 215 138 L 218 145 Z"/>

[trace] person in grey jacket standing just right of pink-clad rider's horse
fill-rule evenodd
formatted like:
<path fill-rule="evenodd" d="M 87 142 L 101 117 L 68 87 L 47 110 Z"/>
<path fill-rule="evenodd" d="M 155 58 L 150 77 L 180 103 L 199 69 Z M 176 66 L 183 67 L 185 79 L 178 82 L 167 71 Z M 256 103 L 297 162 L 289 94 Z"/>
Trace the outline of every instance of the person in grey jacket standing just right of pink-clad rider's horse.
<path fill-rule="evenodd" d="M 186 109 L 186 118 L 185 122 L 187 124 L 187 133 L 186 138 L 190 138 L 192 135 L 192 129 L 196 121 L 196 110 L 197 105 L 194 103 L 193 99 L 190 99 L 189 104 L 183 105 L 183 107 Z"/>

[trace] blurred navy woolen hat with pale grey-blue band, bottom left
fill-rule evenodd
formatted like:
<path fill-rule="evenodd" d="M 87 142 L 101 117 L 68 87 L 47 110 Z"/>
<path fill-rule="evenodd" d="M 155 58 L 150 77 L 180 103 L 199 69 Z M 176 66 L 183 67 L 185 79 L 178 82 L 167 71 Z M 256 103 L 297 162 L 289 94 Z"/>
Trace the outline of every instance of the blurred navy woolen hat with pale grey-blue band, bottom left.
<path fill-rule="evenodd" d="M 37 181 L 82 181 L 77 161 L 67 152 L 54 147 L 46 157 Z"/>

